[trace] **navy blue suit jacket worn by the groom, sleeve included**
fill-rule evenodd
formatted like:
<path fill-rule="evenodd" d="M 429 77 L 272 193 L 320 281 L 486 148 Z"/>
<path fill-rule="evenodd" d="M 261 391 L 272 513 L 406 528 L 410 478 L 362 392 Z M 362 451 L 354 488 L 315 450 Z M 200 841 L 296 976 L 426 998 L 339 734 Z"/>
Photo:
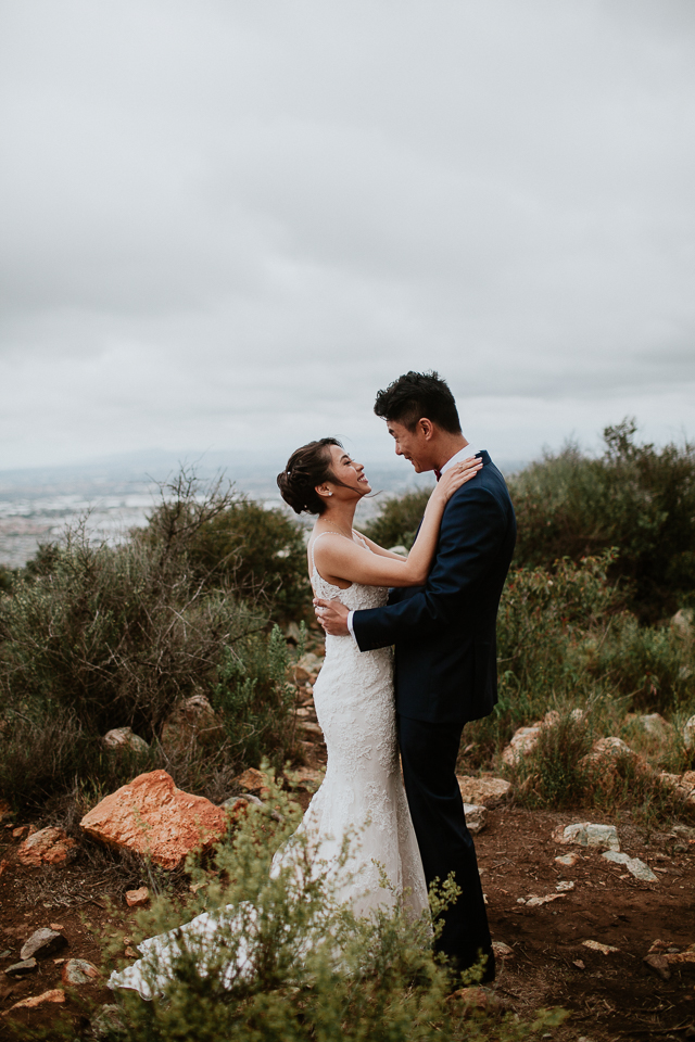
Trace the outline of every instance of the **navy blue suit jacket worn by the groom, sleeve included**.
<path fill-rule="evenodd" d="M 396 711 L 413 720 L 465 723 L 497 701 L 495 624 L 517 525 L 504 478 L 478 455 L 482 469 L 444 508 L 426 585 L 353 617 L 361 651 L 395 645 Z"/>

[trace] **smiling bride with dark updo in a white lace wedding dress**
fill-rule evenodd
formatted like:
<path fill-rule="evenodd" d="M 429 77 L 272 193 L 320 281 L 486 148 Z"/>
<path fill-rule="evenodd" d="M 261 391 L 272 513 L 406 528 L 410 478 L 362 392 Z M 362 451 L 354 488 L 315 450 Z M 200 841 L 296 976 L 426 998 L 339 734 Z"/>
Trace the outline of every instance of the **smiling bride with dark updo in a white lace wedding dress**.
<path fill-rule="evenodd" d="M 371 492 L 364 466 L 334 437 L 298 448 L 277 482 L 296 513 L 317 516 L 307 546 L 315 597 L 340 600 L 351 610 L 377 608 L 386 605 L 390 586 L 422 585 L 444 507 L 481 466 L 471 458 L 442 475 L 404 559 L 352 526 L 357 504 Z M 314 702 L 328 763 L 295 835 L 303 837 L 321 871 L 333 874 L 333 893 L 356 915 L 399 901 L 417 918 L 428 907 L 428 895 L 401 776 L 391 649 L 361 652 L 352 637 L 327 635 Z M 358 842 L 352 841 L 355 834 Z M 291 864 L 292 856 L 290 840 L 276 853 L 271 875 Z M 163 988 L 181 933 L 212 941 L 220 929 L 233 929 L 233 915 L 219 919 L 203 913 L 180 931 L 143 941 L 144 958 L 112 974 L 110 987 L 152 997 L 153 976 Z M 154 975 L 153 958 L 159 962 Z"/>

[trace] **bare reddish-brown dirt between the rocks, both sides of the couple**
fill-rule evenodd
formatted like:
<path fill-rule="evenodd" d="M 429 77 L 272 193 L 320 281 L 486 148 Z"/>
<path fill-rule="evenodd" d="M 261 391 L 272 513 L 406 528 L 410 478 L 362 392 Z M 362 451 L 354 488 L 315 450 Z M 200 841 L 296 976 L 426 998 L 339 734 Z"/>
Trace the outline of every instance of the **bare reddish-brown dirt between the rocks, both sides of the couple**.
<path fill-rule="evenodd" d="M 308 799 L 308 796 L 305 798 Z M 624 866 L 604 861 L 601 851 L 560 847 L 552 834 L 558 825 L 585 815 L 526 811 L 507 804 L 489 812 L 476 843 L 493 938 L 513 954 L 498 964 L 493 991 L 521 1016 L 540 1006 L 563 1006 L 570 1019 L 554 1038 L 565 1040 L 685 1039 L 695 1037 L 695 963 L 671 965 L 662 979 L 644 963 L 661 940 L 683 951 L 695 941 L 695 830 L 646 837 L 624 817 L 617 824 L 622 850 L 647 862 L 658 882 L 641 884 Z M 602 822 L 601 816 L 592 821 Z M 105 855 L 84 847 L 66 867 L 26 868 L 16 861 L 18 824 L 0 828 L 0 970 L 18 961 L 20 948 L 34 930 L 56 925 L 68 946 L 56 958 L 101 962 L 100 937 L 132 917 L 125 891 L 141 884 L 134 864 L 117 868 Z M 38 823 L 40 824 L 40 823 Z M 555 857 L 574 850 L 573 867 Z M 557 890 L 559 882 L 573 889 Z M 543 905 L 519 903 L 530 897 L 561 897 Z M 118 908 L 108 912 L 106 899 Z M 586 948 L 598 941 L 617 949 L 603 954 Z M 13 1003 L 61 988 L 63 962 L 49 957 L 23 980 L 0 976 L 0 1038 L 11 1038 L 7 1011 Z M 58 1009 L 87 1025 L 84 1000 L 108 1003 L 103 981 L 66 990 L 64 1005 L 15 1011 L 17 1021 L 49 1026 Z"/>

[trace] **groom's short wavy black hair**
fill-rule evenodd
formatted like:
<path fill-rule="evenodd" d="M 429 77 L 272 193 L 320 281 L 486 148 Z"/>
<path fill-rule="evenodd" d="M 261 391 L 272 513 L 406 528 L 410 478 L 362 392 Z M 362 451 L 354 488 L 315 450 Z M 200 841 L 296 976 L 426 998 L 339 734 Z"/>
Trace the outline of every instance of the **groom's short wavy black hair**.
<path fill-rule="evenodd" d="M 403 423 L 414 431 L 418 420 L 428 419 L 450 434 L 460 434 L 454 395 L 438 372 L 406 372 L 379 391 L 374 405 L 377 416 Z"/>

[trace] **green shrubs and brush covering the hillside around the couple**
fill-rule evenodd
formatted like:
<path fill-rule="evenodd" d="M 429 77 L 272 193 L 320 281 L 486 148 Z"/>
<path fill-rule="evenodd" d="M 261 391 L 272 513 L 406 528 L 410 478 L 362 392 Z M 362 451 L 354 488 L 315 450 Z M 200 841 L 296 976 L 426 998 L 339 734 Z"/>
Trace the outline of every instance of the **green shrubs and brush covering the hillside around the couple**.
<path fill-rule="evenodd" d="M 504 775 L 526 808 L 627 813 L 646 843 L 693 816 L 659 774 L 695 768 L 695 726 L 690 738 L 685 726 L 695 714 L 695 449 L 639 445 L 629 422 L 608 428 L 605 446 L 597 459 L 569 446 L 509 481 L 519 539 L 498 615 L 500 701 L 467 725 L 459 770 Z M 388 499 L 368 534 L 409 546 L 427 495 Z M 121 1026 L 103 1038 L 520 1042 L 561 1024 L 559 1011 L 539 1009 L 534 1021 L 471 1013 L 465 991 L 445 997 L 427 924 L 397 911 L 355 919 L 312 866 L 299 898 L 294 872 L 268 875 L 301 813 L 282 772 L 306 755 L 296 710 L 307 691 L 311 700 L 294 669 L 306 630 L 283 627 L 307 621 L 312 639 L 320 635 L 303 532 L 283 510 L 182 473 L 124 544 L 93 544 L 77 529 L 0 579 L 0 797 L 17 814 L 79 837 L 86 811 L 155 767 L 215 803 L 245 767 L 266 761 L 278 778 L 212 862 L 189 859 L 184 884 L 139 869 L 160 897 L 138 938 L 203 910 L 254 908 L 253 973 L 230 991 L 219 982 L 228 953 L 206 978 L 181 960 L 166 1001 L 127 995 Z M 195 698 L 211 727 L 172 742 L 169 721 Z M 533 750 L 509 759 L 517 729 L 539 721 Z M 119 727 L 147 746 L 106 748 L 104 734 Z M 607 737 L 626 744 L 610 770 L 591 759 Z M 316 923 L 325 943 L 307 948 Z M 116 955 L 125 929 L 109 935 Z"/>

